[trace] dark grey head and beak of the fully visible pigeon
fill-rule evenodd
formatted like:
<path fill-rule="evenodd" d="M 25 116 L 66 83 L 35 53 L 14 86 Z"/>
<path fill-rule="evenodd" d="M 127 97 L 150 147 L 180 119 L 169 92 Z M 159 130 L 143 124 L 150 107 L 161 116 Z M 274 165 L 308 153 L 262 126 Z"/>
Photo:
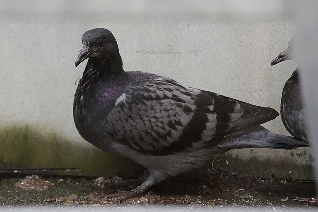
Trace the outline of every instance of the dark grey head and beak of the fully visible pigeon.
<path fill-rule="evenodd" d="M 109 30 L 91 29 L 83 34 L 82 43 L 83 49 L 79 51 L 75 67 L 87 58 L 95 58 L 105 64 L 122 64 L 116 39 Z"/>

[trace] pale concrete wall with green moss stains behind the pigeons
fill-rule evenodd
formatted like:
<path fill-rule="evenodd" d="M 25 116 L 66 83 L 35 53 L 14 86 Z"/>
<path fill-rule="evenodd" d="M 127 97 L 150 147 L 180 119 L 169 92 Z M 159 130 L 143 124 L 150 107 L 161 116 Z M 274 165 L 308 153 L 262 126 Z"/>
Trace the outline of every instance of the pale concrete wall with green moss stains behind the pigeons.
<path fill-rule="evenodd" d="M 2 172 L 39 169 L 111 176 L 115 170 L 129 175 L 141 170 L 131 161 L 106 154 L 84 141 L 73 123 L 75 82 L 86 64 L 74 68 L 74 62 L 82 48 L 81 35 L 96 27 L 113 32 L 125 70 L 169 76 L 188 86 L 277 111 L 283 85 L 297 67 L 292 61 L 270 66 L 293 36 L 288 15 L 2 12 Z M 181 54 L 160 53 L 166 50 Z M 288 135 L 280 117 L 264 126 Z M 310 155 L 310 148 L 235 150 L 217 156 L 214 167 L 260 177 L 313 179 Z"/>

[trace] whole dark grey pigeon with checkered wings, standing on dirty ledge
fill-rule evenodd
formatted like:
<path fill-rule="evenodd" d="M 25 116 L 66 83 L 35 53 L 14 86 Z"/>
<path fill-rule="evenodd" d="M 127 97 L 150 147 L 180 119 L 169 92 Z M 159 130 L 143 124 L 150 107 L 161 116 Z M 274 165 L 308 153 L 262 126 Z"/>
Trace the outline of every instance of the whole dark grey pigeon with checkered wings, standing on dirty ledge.
<path fill-rule="evenodd" d="M 73 104 L 79 134 L 147 169 L 120 202 L 231 149 L 308 146 L 260 126 L 279 115 L 272 108 L 191 88 L 168 77 L 124 71 L 117 41 L 107 29 L 85 32 L 82 44 L 75 67 L 88 61 Z"/>

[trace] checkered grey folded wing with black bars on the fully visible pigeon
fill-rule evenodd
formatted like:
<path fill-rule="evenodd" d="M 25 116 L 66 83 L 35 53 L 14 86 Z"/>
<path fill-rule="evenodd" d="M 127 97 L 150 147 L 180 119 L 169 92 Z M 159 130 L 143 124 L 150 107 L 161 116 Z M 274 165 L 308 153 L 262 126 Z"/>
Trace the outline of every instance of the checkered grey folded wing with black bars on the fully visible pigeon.
<path fill-rule="evenodd" d="M 277 116 L 273 109 L 189 88 L 167 77 L 134 74 L 139 74 L 132 77 L 136 81 L 117 99 L 107 123 L 116 141 L 143 153 L 213 146 L 224 136 L 250 132 Z"/>

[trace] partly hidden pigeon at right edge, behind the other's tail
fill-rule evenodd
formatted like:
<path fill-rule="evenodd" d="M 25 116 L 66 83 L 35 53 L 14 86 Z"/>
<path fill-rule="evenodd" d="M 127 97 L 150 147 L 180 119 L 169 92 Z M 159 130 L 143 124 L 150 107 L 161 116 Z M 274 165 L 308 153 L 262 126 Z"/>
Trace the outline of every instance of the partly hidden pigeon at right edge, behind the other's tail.
<path fill-rule="evenodd" d="M 294 37 L 290 39 L 288 47 L 281 52 L 271 65 L 278 64 L 285 60 L 293 60 Z M 299 68 L 293 72 L 286 81 L 280 104 L 280 113 L 282 122 L 287 131 L 297 139 L 310 143 L 307 134 L 307 124 L 305 115 L 305 106 L 302 100 L 302 88 L 299 83 Z"/>

